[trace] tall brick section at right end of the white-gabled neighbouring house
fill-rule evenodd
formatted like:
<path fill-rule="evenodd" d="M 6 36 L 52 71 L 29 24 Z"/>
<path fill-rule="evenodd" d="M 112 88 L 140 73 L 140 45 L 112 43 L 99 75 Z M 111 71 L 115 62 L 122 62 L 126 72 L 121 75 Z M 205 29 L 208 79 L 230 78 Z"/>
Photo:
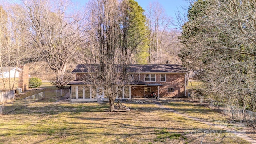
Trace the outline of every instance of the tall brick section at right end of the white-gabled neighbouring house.
<path fill-rule="evenodd" d="M 20 66 L 21 72 L 19 73 L 19 88 L 22 89 L 22 92 L 25 90 L 28 90 L 28 84 L 29 84 L 29 67 L 22 65 Z"/>

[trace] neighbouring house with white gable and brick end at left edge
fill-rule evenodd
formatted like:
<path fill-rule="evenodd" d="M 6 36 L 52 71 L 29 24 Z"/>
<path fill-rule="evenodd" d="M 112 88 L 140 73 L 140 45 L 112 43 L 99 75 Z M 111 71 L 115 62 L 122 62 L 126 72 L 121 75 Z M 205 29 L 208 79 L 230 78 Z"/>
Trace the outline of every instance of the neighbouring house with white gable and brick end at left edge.
<path fill-rule="evenodd" d="M 0 90 L 9 90 L 10 86 L 14 89 L 21 88 L 22 92 L 28 90 L 28 66 L 3 67 L 0 68 Z M 5 83 L 5 88 L 4 88 Z M 13 86 L 14 85 L 14 86 Z"/>

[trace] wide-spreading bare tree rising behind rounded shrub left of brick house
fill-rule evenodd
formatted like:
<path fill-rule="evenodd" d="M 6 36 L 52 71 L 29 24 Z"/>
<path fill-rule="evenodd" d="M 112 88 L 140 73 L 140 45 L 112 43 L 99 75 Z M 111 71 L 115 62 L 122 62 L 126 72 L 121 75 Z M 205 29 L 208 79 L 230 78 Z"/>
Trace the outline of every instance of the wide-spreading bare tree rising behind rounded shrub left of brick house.
<path fill-rule="evenodd" d="M 34 51 L 55 72 L 56 83 L 65 82 L 68 61 L 84 48 L 84 14 L 72 13 L 68 0 L 31 0 L 24 5 Z"/>

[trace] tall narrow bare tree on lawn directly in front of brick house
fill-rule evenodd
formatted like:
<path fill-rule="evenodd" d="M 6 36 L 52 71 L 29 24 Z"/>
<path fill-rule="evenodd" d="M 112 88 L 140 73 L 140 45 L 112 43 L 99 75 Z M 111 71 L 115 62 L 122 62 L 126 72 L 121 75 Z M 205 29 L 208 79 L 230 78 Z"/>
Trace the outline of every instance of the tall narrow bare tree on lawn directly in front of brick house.
<path fill-rule="evenodd" d="M 110 112 L 114 111 L 116 94 L 123 85 L 118 72 L 119 58 L 122 50 L 119 50 L 121 42 L 120 10 L 117 0 L 91 0 L 90 18 L 92 31 L 90 40 L 94 51 L 91 54 L 90 64 L 97 65 L 92 70 L 90 79 L 92 84 L 104 88 L 104 93 L 109 98 Z M 128 53 L 128 52 L 126 52 Z"/>

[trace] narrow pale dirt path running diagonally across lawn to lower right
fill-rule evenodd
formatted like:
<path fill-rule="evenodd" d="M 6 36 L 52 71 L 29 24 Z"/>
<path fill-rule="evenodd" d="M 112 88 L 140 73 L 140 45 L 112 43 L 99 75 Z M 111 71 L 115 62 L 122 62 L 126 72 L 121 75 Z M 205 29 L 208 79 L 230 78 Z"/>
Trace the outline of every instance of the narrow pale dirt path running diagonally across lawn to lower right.
<path fill-rule="evenodd" d="M 182 114 L 182 113 L 177 112 L 177 111 L 175 111 L 175 110 L 172 110 L 172 109 L 170 109 L 170 108 L 166 108 L 166 107 L 163 106 L 160 102 L 154 102 L 154 104 L 158 105 L 160 108 L 163 108 L 164 110 L 168 110 L 168 111 L 173 112 L 173 113 L 175 113 L 175 114 L 179 114 L 180 116 L 184 116 L 184 117 L 187 117 L 187 118 L 191 118 L 192 120 L 199 121 L 199 122 L 202 122 L 202 123 L 204 123 L 204 124 L 208 124 L 209 126 L 215 126 L 215 127 L 217 127 L 217 128 L 222 128 L 222 129 L 226 130 L 226 132 L 228 132 L 228 133 L 232 133 L 232 134 L 238 136 L 239 138 L 242 138 L 242 139 L 244 139 L 244 140 L 246 140 L 246 141 L 248 141 L 248 142 L 250 142 L 250 143 L 252 143 L 252 144 L 256 144 L 256 140 L 254 140 L 254 139 L 252 139 L 252 138 L 250 138 L 250 137 L 244 135 L 244 134 L 246 134 L 246 132 L 238 132 L 238 131 L 229 129 L 229 128 L 227 128 L 226 126 L 221 126 L 221 125 L 218 125 L 218 124 L 213 124 L 213 123 L 211 123 L 211 122 L 207 122 L 207 121 L 202 120 L 202 119 L 200 119 L 200 118 L 194 118 L 194 117 L 192 117 L 192 116 L 188 116 L 188 115 L 186 115 L 186 114 Z"/>

